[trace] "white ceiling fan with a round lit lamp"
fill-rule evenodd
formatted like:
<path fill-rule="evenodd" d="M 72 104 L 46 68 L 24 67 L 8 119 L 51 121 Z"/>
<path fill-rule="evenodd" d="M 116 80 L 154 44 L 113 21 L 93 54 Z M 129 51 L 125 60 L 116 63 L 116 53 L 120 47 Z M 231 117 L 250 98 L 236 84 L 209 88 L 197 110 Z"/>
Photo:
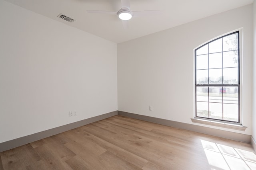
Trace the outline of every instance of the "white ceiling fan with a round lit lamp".
<path fill-rule="evenodd" d="M 122 20 L 124 28 L 128 28 L 128 20 L 130 20 L 132 17 L 148 16 L 152 14 L 159 14 L 162 12 L 162 10 L 132 11 L 130 10 L 130 0 L 121 0 L 121 3 L 122 8 L 118 11 L 87 10 L 87 12 L 118 15 L 118 17 Z"/>

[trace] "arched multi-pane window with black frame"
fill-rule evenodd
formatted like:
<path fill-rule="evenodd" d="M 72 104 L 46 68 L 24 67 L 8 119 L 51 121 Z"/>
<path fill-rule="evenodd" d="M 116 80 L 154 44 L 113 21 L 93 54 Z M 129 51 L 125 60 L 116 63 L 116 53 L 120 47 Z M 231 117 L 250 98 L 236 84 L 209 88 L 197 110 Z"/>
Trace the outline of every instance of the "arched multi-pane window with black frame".
<path fill-rule="evenodd" d="M 196 117 L 240 123 L 239 76 L 239 31 L 196 49 Z"/>

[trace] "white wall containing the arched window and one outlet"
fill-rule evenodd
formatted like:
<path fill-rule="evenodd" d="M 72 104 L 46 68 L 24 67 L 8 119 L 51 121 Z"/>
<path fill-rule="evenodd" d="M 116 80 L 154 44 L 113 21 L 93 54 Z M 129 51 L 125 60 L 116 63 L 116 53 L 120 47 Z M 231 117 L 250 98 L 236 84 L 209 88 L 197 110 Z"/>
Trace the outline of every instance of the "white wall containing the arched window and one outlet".
<path fill-rule="evenodd" d="M 193 49 L 242 27 L 242 123 L 248 128 L 245 132 L 213 128 L 251 135 L 252 5 L 119 43 L 118 110 L 196 124 L 190 120 L 194 117 Z"/>

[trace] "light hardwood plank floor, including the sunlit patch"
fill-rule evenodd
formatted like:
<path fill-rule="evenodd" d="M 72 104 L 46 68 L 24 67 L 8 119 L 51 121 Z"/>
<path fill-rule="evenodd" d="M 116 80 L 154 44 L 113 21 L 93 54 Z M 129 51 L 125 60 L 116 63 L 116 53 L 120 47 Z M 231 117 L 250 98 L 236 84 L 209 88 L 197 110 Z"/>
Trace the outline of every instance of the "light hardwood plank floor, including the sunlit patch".
<path fill-rule="evenodd" d="M 2 169 L 253 170 L 256 155 L 247 143 L 116 115 L 1 152 Z"/>

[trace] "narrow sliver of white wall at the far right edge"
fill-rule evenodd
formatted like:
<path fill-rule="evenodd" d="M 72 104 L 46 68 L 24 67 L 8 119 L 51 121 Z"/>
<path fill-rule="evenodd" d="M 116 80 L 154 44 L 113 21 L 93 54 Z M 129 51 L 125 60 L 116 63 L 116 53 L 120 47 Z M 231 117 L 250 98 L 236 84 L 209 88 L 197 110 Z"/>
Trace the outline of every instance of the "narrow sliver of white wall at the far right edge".
<path fill-rule="evenodd" d="M 252 137 L 256 140 L 256 1 L 253 3 Z"/>

